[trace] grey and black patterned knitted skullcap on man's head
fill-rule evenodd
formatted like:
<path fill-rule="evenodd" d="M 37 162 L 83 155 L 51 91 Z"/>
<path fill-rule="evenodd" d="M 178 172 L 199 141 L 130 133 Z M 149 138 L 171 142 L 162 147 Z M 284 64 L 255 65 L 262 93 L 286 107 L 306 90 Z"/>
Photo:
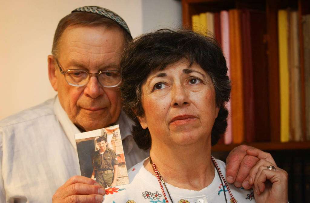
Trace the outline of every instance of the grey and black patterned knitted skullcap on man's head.
<path fill-rule="evenodd" d="M 122 28 L 124 28 L 127 31 L 127 33 L 129 33 L 129 35 L 131 36 L 130 30 L 129 30 L 125 20 L 122 19 L 121 16 L 117 15 L 116 13 L 114 13 L 113 11 L 111 11 L 109 9 L 102 8 L 99 6 L 84 6 L 84 7 L 79 7 L 79 8 L 74 9 L 71 13 L 76 12 L 76 11 L 94 13 L 94 14 L 102 15 L 106 18 L 111 19 L 111 20 L 114 20 L 119 25 L 121 25 Z"/>

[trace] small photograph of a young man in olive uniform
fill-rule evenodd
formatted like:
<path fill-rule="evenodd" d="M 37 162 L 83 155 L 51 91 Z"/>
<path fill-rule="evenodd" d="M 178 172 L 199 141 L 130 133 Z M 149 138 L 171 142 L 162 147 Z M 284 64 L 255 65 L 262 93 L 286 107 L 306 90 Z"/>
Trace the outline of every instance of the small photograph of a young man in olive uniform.
<path fill-rule="evenodd" d="M 119 126 L 75 134 L 81 175 L 104 188 L 128 184 Z"/>

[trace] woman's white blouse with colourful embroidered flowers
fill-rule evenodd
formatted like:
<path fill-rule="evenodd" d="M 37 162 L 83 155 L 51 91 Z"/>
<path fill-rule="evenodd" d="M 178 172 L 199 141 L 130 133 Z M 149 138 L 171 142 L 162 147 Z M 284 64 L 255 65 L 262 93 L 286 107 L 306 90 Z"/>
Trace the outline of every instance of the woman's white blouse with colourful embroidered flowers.
<path fill-rule="evenodd" d="M 225 177 L 225 163 L 217 159 L 215 160 L 219 164 L 220 170 Z M 165 202 L 157 178 L 144 168 L 143 162 L 144 161 L 136 164 L 128 170 L 129 184 L 106 189 L 104 203 Z M 222 183 L 216 169 L 212 183 L 200 191 L 177 188 L 168 183 L 166 183 L 166 186 L 174 203 L 226 202 Z M 236 188 L 231 184 L 228 184 L 228 187 L 238 203 L 255 202 L 253 190 Z M 226 187 L 225 194 L 227 202 L 231 202 L 231 196 Z M 166 195 L 170 202 L 167 192 Z"/>

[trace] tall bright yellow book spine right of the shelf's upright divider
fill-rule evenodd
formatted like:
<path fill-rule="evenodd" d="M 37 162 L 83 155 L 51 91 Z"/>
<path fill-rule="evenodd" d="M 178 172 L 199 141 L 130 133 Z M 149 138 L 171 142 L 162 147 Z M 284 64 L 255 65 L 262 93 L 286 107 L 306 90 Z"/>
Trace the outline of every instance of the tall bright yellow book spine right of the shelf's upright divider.
<path fill-rule="evenodd" d="M 278 11 L 278 40 L 279 40 L 279 77 L 280 77 L 280 140 L 289 141 L 289 95 L 290 80 L 288 68 L 288 26 L 287 11 Z"/>

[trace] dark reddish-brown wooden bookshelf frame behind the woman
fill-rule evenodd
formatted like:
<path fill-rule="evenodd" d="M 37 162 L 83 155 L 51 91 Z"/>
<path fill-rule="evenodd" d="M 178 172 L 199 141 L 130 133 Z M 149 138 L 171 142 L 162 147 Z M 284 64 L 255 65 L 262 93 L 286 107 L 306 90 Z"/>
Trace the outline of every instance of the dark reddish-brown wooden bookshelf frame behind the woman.
<path fill-rule="evenodd" d="M 184 27 L 190 28 L 192 25 L 191 16 L 201 12 L 219 12 L 229 9 L 256 9 L 263 10 L 267 19 L 267 54 L 268 54 L 268 109 L 269 129 L 268 143 L 244 143 L 262 150 L 284 150 L 284 149 L 310 149 L 310 142 L 280 142 L 280 88 L 279 88 L 279 58 L 278 58 L 278 30 L 277 30 L 277 11 L 287 7 L 298 9 L 299 16 L 299 40 L 302 42 L 301 16 L 310 14 L 309 0 L 182 0 L 182 18 Z M 300 43 L 302 45 L 302 43 Z M 303 46 L 300 46 L 300 54 L 303 54 Z M 301 61 L 301 63 L 303 63 Z M 302 65 L 301 65 L 302 66 Z M 303 76 L 303 69 L 301 69 Z M 303 77 L 301 77 L 303 82 Z M 304 89 L 302 89 L 302 95 Z M 304 97 L 302 97 L 303 117 L 305 116 Z M 305 119 L 303 118 L 303 134 L 305 139 Z M 239 145 L 239 144 L 238 144 Z M 212 147 L 213 151 L 229 151 L 237 145 L 217 144 Z"/>

